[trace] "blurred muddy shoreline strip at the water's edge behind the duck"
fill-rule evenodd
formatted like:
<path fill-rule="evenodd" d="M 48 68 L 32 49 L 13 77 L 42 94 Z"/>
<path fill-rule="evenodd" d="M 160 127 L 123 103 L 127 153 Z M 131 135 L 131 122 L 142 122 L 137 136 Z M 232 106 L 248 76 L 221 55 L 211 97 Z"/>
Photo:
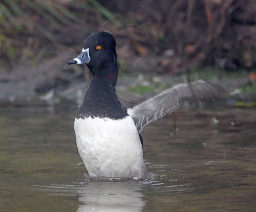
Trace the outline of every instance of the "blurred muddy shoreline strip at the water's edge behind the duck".
<path fill-rule="evenodd" d="M 236 99 L 232 103 L 234 106 L 237 101 L 254 102 L 256 100 L 255 84 L 250 81 L 246 72 L 242 72 L 239 77 L 225 76 L 222 73 L 223 76 L 219 80 L 209 73 L 210 71 L 205 73 L 204 70 L 192 72 L 189 79 L 191 82 L 197 79 L 205 79 L 219 84 L 227 90 L 227 93 L 223 93 L 220 98 Z M 120 74 L 116 91 L 122 104 L 132 106 L 137 101 L 151 97 L 175 84 L 187 82 L 188 75 L 185 74 L 164 76 L 151 73 L 138 76 Z M 84 72 L 81 71 L 80 74 L 77 74 L 70 70 L 64 71 L 63 75 L 53 77 L 49 81 L 41 81 L 35 84 L 34 90 L 19 89 L 18 86 L 22 85 L 24 88 L 27 86 L 26 83 L 19 83 L 15 84 L 12 81 L 2 83 L 2 86 L 4 84 L 2 91 L 5 90 L 5 93 L 1 92 L 0 106 L 44 107 L 54 106 L 60 102 L 68 103 L 69 101 L 80 106 L 90 84 L 90 82 L 86 82 Z"/>

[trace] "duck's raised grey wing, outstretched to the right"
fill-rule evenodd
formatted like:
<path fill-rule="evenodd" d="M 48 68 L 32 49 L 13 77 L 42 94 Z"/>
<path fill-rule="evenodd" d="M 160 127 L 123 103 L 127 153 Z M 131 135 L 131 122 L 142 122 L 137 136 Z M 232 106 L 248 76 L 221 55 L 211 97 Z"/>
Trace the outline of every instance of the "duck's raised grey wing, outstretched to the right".
<path fill-rule="evenodd" d="M 133 108 L 128 108 L 127 113 L 132 117 L 140 133 L 149 122 L 172 113 L 184 100 L 214 99 L 220 91 L 225 90 L 217 84 L 204 80 L 197 80 L 191 84 L 178 84 Z"/>

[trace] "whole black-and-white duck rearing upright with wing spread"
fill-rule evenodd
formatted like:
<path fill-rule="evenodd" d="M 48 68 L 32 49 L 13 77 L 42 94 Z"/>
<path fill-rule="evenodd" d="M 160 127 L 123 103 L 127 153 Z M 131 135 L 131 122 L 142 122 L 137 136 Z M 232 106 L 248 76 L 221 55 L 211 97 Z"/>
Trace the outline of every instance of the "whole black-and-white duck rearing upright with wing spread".
<path fill-rule="evenodd" d="M 108 32 L 89 35 L 71 64 L 85 64 L 92 81 L 75 122 L 77 149 L 91 178 L 147 179 L 141 131 L 152 121 L 176 110 L 186 99 L 214 99 L 224 89 L 197 80 L 175 85 L 133 107 L 122 106 L 116 95 L 116 39 Z"/>

